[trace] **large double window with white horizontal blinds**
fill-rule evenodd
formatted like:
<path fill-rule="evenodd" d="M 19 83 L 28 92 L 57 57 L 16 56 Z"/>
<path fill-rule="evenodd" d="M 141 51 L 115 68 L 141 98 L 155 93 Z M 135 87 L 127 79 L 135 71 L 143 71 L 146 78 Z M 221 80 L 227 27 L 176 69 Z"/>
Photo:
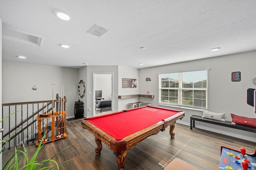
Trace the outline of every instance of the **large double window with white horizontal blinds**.
<path fill-rule="evenodd" d="M 159 73 L 159 104 L 207 109 L 208 70 Z"/>

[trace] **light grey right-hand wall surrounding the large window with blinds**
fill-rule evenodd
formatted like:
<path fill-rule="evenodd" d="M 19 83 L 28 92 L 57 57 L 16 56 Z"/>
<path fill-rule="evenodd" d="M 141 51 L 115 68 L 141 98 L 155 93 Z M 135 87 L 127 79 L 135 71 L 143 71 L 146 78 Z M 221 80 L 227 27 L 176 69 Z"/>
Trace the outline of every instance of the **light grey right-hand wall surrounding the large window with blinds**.
<path fill-rule="evenodd" d="M 158 72 L 210 67 L 210 70 L 208 71 L 208 110 L 218 113 L 226 113 L 225 119 L 228 119 L 228 121 L 232 120 L 230 113 L 256 118 L 256 114 L 253 112 L 253 107 L 246 104 L 246 90 L 248 88 L 256 88 L 256 85 L 252 83 L 252 79 L 256 77 L 255 56 L 256 51 L 252 51 L 140 69 L 140 93 L 150 91 L 150 94 L 154 94 L 155 98 L 148 100 L 151 101 L 152 105 L 158 106 Z M 236 71 L 241 72 L 240 82 L 231 81 L 231 73 Z M 151 81 L 146 82 L 146 77 L 151 78 Z M 202 115 L 202 111 L 175 107 L 172 109 L 185 111 L 185 117 L 180 122 L 187 125 L 190 124 L 191 115 Z M 197 124 L 203 129 L 216 130 L 218 133 L 228 134 L 256 142 L 255 133 L 220 127 L 208 123 Z"/>

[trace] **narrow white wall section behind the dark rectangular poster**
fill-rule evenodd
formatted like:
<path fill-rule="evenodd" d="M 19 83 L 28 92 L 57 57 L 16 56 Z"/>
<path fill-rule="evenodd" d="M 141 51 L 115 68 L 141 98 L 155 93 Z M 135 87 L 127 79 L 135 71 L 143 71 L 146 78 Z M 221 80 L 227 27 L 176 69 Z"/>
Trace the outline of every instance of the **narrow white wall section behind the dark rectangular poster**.
<path fill-rule="evenodd" d="M 137 88 L 122 88 L 122 78 L 137 79 Z M 118 66 L 118 96 L 139 94 L 139 70 L 127 66 Z M 118 111 L 128 109 L 128 103 L 139 102 L 139 98 L 118 99 Z"/>

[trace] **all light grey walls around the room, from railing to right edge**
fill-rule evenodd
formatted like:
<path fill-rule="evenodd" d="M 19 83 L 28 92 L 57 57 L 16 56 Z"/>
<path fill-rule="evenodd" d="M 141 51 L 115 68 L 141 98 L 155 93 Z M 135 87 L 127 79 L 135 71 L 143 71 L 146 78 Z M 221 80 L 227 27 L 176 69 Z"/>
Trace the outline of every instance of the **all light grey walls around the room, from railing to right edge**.
<path fill-rule="evenodd" d="M 54 86 L 54 95 L 60 93 L 60 85 L 64 84 L 65 96 L 68 99 L 66 109 L 69 115 L 67 118 L 74 117 L 74 102 L 78 100 L 78 82 L 83 80 L 86 86 L 85 97 L 81 99 L 84 102 L 84 116 L 92 117 L 93 112 L 92 110 L 88 111 L 88 108 L 92 109 L 93 104 L 95 104 L 92 96 L 93 73 L 113 72 L 113 112 L 127 109 L 128 103 L 137 101 L 148 102 L 153 106 L 158 106 L 158 72 L 209 67 L 208 110 L 226 113 L 225 119 L 229 121 L 231 121 L 230 113 L 256 118 L 253 108 L 246 104 L 246 89 L 256 88 L 255 84 L 252 84 L 252 79 L 256 77 L 255 56 L 256 51 L 252 51 L 140 70 L 126 66 L 85 66 L 78 70 L 2 61 L 2 103 L 51 100 L 51 84 L 56 84 Z M 241 72 L 240 82 L 231 81 L 231 72 L 236 71 Z M 146 77 L 149 77 L 151 81 L 147 82 Z M 137 79 L 137 88 L 122 88 L 122 78 Z M 34 85 L 38 90 L 31 89 Z M 118 99 L 118 96 L 146 94 L 147 91 L 155 95 L 155 98 Z M 179 122 L 186 125 L 190 124 L 191 115 L 202 115 L 202 111 L 180 109 L 185 111 L 185 117 Z M 255 133 L 200 122 L 196 123 L 196 126 L 256 142 Z"/>

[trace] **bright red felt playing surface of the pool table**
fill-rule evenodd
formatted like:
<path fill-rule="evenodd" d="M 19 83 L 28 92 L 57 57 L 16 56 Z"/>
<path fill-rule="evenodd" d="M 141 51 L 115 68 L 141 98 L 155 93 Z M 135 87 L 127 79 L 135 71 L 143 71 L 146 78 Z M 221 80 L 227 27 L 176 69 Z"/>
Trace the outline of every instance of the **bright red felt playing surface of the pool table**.
<path fill-rule="evenodd" d="M 142 107 L 88 118 L 87 121 L 116 139 L 136 133 L 150 125 L 164 121 L 180 111 L 159 107 Z"/>

